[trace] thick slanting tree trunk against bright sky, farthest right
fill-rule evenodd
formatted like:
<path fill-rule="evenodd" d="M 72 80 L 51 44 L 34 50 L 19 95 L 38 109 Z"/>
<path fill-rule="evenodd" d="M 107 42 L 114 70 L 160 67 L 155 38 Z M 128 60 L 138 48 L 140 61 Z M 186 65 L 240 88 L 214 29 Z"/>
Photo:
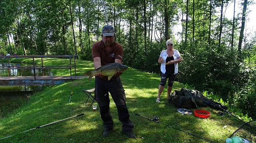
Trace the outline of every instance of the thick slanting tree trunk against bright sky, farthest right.
<path fill-rule="evenodd" d="M 243 13 L 242 13 L 242 25 L 240 30 L 239 42 L 238 42 L 238 52 L 241 54 L 242 50 L 242 42 L 243 42 L 243 31 L 245 29 L 245 15 L 246 15 L 246 8 L 247 8 L 247 0 L 243 2 Z M 242 59 L 240 59 L 241 61 Z"/>

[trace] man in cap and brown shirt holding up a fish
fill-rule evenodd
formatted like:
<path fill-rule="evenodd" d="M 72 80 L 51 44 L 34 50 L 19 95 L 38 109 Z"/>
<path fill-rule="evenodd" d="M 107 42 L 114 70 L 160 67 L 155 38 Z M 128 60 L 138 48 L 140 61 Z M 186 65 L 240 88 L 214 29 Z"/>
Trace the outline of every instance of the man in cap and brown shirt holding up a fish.
<path fill-rule="evenodd" d="M 116 34 L 114 28 L 110 25 L 105 25 L 102 28 L 101 37 L 102 40 L 95 42 L 92 46 L 95 69 L 108 63 L 121 63 L 124 49 L 121 44 L 115 42 Z M 119 78 L 121 74 L 121 71 L 117 71 L 111 80 L 108 80 L 107 76 L 104 76 L 102 73 L 98 73 L 95 76 L 95 95 L 100 106 L 100 115 L 104 127 L 102 135 L 104 137 L 108 136 L 113 130 L 114 124 L 110 114 L 109 92 L 117 107 L 119 120 L 123 124 L 122 132 L 129 138 L 136 138 L 136 135 L 132 132 L 134 125 L 129 119 L 130 115 L 126 106 L 124 88 Z"/>

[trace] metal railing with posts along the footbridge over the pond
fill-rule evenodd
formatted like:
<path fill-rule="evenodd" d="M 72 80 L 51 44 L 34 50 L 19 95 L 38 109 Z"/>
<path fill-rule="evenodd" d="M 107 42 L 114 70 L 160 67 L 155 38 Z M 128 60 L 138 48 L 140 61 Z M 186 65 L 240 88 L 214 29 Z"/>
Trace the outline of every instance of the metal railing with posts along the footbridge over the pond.
<path fill-rule="evenodd" d="M 36 79 L 36 69 L 42 69 L 43 76 L 44 70 L 43 69 L 69 69 L 70 70 L 70 79 L 72 79 L 72 67 L 75 69 L 75 76 L 76 76 L 76 58 L 77 55 L 29 55 L 29 56 L 0 56 L 0 59 L 8 59 L 8 66 L 2 66 L 1 69 L 33 69 L 34 78 Z M 33 59 L 33 66 L 10 66 L 10 58 L 32 58 Z M 41 65 L 35 65 L 35 58 L 41 58 Z M 69 66 L 65 65 L 43 65 L 43 58 L 69 58 Z M 71 65 L 71 59 L 74 58 L 74 65 Z"/>

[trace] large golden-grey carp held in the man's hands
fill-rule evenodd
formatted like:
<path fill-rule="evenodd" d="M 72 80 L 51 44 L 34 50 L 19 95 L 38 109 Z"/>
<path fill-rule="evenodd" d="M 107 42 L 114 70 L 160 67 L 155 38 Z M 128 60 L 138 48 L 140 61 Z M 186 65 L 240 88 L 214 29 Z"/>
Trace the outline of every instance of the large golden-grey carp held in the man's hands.
<path fill-rule="evenodd" d="M 128 67 L 126 65 L 122 65 L 121 63 L 108 63 L 98 67 L 95 70 L 86 71 L 84 75 L 89 76 L 88 80 L 91 80 L 93 76 L 101 72 L 104 76 L 108 76 L 108 80 L 110 80 L 115 75 L 115 72 L 125 71 L 126 69 L 128 69 Z"/>

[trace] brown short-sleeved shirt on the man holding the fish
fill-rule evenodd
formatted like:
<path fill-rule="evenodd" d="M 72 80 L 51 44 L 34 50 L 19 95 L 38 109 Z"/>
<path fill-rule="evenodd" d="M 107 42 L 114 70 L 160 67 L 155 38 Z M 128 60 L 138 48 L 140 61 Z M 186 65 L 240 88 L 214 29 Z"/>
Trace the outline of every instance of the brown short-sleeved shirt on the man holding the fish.
<path fill-rule="evenodd" d="M 115 63 L 115 59 L 122 60 L 124 49 L 121 44 L 114 42 L 110 48 L 106 48 L 104 42 L 95 42 L 92 46 L 92 57 L 100 57 L 101 65 Z"/>

